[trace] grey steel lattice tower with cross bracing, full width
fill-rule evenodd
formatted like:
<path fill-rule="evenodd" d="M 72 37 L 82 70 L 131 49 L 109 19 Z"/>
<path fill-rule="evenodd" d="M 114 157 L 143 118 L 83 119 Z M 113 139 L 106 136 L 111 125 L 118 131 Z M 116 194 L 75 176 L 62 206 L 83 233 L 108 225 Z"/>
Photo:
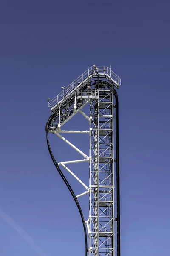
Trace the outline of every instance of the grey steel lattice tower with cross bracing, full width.
<path fill-rule="evenodd" d="M 114 94 L 98 90 L 90 113 L 89 256 L 115 256 Z"/>

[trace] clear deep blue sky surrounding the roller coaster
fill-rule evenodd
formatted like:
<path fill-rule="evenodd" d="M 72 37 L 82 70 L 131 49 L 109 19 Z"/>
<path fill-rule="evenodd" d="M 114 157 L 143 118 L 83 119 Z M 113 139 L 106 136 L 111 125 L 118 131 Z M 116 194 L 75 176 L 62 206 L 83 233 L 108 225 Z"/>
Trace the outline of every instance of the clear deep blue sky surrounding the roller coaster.
<path fill-rule="evenodd" d="M 1 256 L 84 256 L 78 210 L 46 146 L 46 99 L 93 64 L 122 78 L 122 256 L 169 254 L 169 13 L 167 0 L 1 0 Z M 88 152 L 84 136 L 71 141 Z M 74 158 L 50 139 L 58 161 Z M 88 181 L 88 167 L 76 172 Z M 88 197 L 80 204 L 88 215 Z"/>

